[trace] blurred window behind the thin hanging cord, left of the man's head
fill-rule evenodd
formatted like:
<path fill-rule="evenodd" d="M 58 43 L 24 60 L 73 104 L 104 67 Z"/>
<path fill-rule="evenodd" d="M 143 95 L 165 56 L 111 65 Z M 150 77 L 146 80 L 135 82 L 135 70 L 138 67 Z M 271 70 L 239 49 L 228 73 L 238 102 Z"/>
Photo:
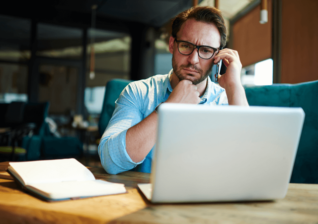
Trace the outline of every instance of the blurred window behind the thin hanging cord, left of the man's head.
<path fill-rule="evenodd" d="M 94 40 L 95 67 L 90 75 L 91 41 Z M 131 37 L 126 33 L 88 29 L 86 88 L 84 105 L 89 114 L 99 114 L 103 106 L 106 83 L 115 78 L 129 79 Z"/>

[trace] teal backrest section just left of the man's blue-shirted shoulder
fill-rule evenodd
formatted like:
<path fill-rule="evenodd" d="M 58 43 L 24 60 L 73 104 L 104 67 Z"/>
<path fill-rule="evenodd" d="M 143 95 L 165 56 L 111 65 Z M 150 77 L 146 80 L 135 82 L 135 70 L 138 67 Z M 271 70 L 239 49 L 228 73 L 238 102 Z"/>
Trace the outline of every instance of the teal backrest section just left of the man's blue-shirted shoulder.
<path fill-rule="evenodd" d="M 130 82 L 132 81 L 126 79 L 113 79 L 107 82 L 103 107 L 98 122 L 98 132 L 100 136 L 103 135 L 108 122 L 113 115 L 113 112 L 115 110 L 115 101 L 118 99 L 121 92 Z"/>

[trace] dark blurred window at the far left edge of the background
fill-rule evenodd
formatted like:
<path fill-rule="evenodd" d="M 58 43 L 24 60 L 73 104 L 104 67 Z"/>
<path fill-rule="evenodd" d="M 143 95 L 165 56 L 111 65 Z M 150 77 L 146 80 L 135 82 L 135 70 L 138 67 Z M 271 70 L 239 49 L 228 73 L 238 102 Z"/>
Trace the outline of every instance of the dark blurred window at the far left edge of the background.
<path fill-rule="evenodd" d="M 31 20 L 0 15 L 0 102 L 28 101 Z"/>

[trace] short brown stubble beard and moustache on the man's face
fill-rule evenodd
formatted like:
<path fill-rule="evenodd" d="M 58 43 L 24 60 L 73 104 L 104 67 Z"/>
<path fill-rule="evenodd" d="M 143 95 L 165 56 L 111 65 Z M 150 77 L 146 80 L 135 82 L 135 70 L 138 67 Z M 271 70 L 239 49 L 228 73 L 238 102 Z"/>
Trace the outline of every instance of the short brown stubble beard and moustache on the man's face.
<path fill-rule="evenodd" d="M 187 79 L 186 76 L 181 74 L 181 71 L 182 71 L 183 68 L 192 68 L 192 69 L 195 69 L 197 72 L 200 73 L 200 77 L 198 79 L 195 79 L 193 81 L 190 80 L 193 85 L 197 85 L 197 84 L 203 82 L 209 76 L 209 74 L 211 73 L 212 67 L 213 67 L 213 64 L 204 73 L 204 71 L 202 69 L 198 68 L 197 66 L 195 66 L 194 64 L 191 64 L 191 63 L 178 65 L 177 62 L 175 61 L 174 56 L 172 56 L 172 68 L 173 68 L 174 73 L 178 77 L 179 81 Z M 193 77 L 192 74 L 187 74 L 187 75 Z"/>

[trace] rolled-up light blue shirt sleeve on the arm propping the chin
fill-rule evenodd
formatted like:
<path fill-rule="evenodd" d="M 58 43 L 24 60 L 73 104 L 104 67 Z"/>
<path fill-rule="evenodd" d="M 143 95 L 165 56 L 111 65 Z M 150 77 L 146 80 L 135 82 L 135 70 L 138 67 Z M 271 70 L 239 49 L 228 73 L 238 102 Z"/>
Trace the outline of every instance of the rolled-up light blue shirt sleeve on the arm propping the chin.
<path fill-rule="evenodd" d="M 101 164 L 107 173 L 117 174 L 135 168 L 126 151 L 127 130 L 143 119 L 142 97 L 130 83 L 115 102 L 115 110 L 98 146 Z"/>

